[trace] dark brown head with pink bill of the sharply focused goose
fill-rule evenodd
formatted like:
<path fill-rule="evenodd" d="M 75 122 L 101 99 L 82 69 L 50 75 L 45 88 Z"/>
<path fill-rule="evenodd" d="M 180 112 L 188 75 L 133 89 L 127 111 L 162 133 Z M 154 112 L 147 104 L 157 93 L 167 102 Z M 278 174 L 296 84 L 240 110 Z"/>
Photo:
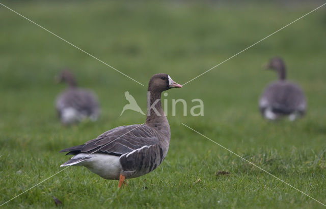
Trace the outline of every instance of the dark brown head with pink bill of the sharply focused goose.
<path fill-rule="evenodd" d="M 174 82 L 168 74 L 155 74 L 148 83 L 148 91 L 162 92 L 171 88 L 182 88 L 182 86 Z"/>

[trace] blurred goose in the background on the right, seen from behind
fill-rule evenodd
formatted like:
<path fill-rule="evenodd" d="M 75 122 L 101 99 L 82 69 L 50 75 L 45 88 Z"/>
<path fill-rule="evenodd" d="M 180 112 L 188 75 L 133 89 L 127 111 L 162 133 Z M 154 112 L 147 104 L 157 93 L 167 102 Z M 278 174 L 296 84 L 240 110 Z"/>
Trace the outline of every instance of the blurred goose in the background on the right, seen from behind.
<path fill-rule="evenodd" d="M 265 68 L 276 71 L 279 80 L 267 85 L 259 99 L 262 116 L 269 120 L 288 116 L 290 121 L 303 116 L 307 106 L 304 93 L 297 84 L 286 81 L 283 60 L 280 57 L 271 58 Z"/>

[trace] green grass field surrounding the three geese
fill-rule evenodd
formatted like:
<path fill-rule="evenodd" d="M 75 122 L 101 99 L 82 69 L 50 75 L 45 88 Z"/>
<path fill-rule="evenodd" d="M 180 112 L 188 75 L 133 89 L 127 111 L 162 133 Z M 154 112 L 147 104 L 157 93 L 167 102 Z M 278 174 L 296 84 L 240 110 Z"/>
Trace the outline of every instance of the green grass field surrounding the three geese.
<path fill-rule="evenodd" d="M 322 4 L 1 3 L 145 87 L 0 6 L 0 204 L 60 171 L 68 157 L 59 150 L 119 125 L 143 123 L 144 116 L 132 111 L 120 117 L 124 91 L 145 111 L 153 74 L 167 73 L 183 84 Z M 325 11 L 170 90 L 170 149 L 153 172 L 118 190 L 117 181 L 69 167 L 3 207 L 55 207 L 52 196 L 64 208 L 322 207 L 181 123 L 326 204 Z M 307 95 L 307 115 L 293 123 L 268 122 L 258 112 L 263 87 L 276 79 L 261 65 L 275 55 Z M 53 78 L 64 67 L 97 93 L 97 122 L 59 123 L 53 102 L 65 85 Z M 187 101 L 188 116 L 181 106 L 172 116 L 173 98 Z M 204 102 L 203 117 L 189 115 L 194 98 Z M 230 174 L 216 176 L 219 170 Z"/>

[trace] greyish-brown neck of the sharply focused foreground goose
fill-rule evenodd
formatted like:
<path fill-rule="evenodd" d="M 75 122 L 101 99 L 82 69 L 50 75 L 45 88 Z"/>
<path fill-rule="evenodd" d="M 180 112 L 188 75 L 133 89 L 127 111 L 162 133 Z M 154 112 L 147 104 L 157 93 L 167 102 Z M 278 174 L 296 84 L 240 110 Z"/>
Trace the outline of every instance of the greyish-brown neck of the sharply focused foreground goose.
<path fill-rule="evenodd" d="M 170 126 L 161 105 L 161 92 L 147 91 L 147 118 L 146 125 L 155 128 L 170 138 Z"/>

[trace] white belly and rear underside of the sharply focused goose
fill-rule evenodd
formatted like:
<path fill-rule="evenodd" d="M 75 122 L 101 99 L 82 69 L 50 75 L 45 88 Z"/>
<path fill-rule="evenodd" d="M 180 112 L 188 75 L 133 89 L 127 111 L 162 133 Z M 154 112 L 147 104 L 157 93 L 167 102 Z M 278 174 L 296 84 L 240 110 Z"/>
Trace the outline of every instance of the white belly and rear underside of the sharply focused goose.
<path fill-rule="evenodd" d="M 76 165 L 83 165 L 90 171 L 96 173 L 98 176 L 104 179 L 116 179 L 118 180 L 121 172 L 121 164 L 119 161 L 120 156 L 107 155 L 107 154 L 78 154 L 74 158 L 90 157 L 83 162 Z"/>

